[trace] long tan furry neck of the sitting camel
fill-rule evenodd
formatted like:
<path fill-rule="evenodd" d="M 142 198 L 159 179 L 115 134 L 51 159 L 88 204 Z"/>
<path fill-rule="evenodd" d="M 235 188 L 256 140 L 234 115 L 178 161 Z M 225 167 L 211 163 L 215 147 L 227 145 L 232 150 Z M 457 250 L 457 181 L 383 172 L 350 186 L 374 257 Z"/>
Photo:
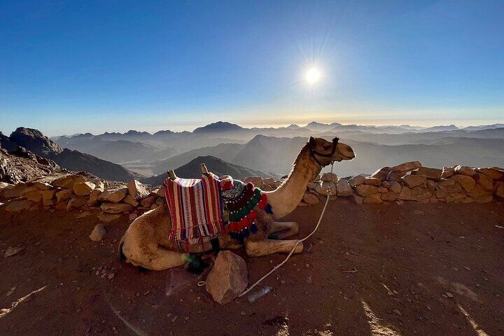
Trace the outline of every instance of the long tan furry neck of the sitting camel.
<path fill-rule="evenodd" d="M 272 206 L 275 219 L 294 211 L 302 200 L 308 183 L 314 181 L 320 171 L 321 167 L 311 158 L 308 148 L 303 148 L 297 155 L 287 180 L 276 190 L 267 193 L 267 200 Z"/>

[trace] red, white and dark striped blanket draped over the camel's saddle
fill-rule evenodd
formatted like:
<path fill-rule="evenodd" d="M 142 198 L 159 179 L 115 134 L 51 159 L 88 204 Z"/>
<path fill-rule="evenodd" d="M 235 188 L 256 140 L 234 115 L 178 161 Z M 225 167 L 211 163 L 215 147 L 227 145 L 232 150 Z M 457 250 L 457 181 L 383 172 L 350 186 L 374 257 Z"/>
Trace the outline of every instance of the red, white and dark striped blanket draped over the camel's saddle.
<path fill-rule="evenodd" d="M 202 244 L 223 233 L 221 185 L 214 174 L 202 179 L 165 180 L 165 199 L 172 231 L 169 239 L 177 244 Z"/>

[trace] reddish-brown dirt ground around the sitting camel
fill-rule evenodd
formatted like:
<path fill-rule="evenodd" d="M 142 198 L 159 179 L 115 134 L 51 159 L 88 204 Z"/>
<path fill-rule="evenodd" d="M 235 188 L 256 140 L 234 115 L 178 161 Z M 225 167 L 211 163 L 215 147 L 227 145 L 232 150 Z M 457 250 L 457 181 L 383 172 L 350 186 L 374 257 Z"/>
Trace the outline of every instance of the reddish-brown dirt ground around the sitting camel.
<path fill-rule="evenodd" d="M 285 220 L 304 237 L 320 211 Z M 225 306 L 183 268 L 120 262 L 127 221 L 95 243 L 96 216 L 0 211 L 0 335 L 504 334 L 503 203 L 330 202 L 304 252 L 264 281 L 272 293 Z M 10 246 L 25 249 L 4 258 Z M 284 257 L 246 258 L 250 283 Z"/>

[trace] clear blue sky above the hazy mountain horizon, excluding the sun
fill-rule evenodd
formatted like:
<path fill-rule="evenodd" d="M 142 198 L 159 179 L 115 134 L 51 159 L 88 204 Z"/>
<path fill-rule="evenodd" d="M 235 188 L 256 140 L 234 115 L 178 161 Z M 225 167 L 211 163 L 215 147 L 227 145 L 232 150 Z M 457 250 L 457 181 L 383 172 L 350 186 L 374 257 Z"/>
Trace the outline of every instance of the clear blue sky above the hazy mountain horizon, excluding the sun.
<path fill-rule="evenodd" d="M 503 18 L 504 1 L 1 1 L 0 130 L 503 122 Z"/>

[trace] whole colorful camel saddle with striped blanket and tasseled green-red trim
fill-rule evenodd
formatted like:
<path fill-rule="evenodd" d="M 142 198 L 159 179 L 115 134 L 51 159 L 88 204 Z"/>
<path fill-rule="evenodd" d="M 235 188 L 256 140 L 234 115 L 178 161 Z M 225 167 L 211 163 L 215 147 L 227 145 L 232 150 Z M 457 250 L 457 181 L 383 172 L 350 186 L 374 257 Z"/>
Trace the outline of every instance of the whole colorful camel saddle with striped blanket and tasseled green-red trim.
<path fill-rule="evenodd" d="M 181 243 L 202 244 L 228 232 L 235 239 L 244 239 L 258 230 L 256 206 L 271 214 L 267 197 L 253 183 L 219 179 L 206 173 L 202 179 L 165 180 L 165 199 L 172 231 L 169 239 Z"/>

